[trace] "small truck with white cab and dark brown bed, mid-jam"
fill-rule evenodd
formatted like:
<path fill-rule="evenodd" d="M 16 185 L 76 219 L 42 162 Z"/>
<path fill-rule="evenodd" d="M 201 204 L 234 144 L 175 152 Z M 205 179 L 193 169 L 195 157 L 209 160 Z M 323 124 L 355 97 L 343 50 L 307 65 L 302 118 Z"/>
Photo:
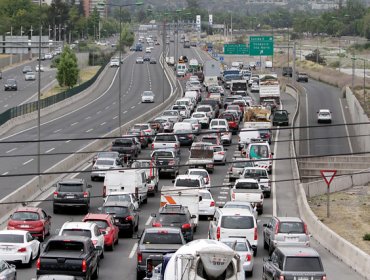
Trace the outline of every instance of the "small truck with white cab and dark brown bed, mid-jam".
<path fill-rule="evenodd" d="M 214 169 L 213 162 L 213 144 L 204 142 L 195 142 L 191 145 L 190 156 L 188 160 L 189 168 L 204 168 L 212 173 Z"/>

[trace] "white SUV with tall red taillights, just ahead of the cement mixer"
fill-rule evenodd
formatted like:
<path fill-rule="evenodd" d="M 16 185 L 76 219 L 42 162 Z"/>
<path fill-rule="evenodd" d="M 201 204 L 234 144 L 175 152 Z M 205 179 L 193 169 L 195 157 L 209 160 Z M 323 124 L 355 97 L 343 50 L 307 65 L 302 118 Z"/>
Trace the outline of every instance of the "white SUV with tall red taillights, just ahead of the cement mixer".
<path fill-rule="evenodd" d="M 208 237 L 214 240 L 223 238 L 246 238 L 257 254 L 257 221 L 248 209 L 217 208 L 209 223 Z"/>

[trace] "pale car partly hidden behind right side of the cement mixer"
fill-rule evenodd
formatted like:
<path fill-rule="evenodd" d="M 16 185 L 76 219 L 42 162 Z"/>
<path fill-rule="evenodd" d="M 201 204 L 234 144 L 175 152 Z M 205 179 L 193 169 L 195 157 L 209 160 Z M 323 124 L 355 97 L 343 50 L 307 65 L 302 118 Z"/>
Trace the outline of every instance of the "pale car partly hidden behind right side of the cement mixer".
<path fill-rule="evenodd" d="M 220 241 L 236 251 L 240 257 L 245 277 L 253 275 L 254 256 L 248 239 L 223 238 Z"/>

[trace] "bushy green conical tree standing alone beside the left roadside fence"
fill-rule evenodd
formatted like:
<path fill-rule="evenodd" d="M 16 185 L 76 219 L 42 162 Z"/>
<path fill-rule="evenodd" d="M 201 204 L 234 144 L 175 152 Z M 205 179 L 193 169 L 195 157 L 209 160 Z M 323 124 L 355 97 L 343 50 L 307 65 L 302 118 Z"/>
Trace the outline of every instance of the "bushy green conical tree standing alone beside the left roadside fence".
<path fill-rule="evenodd" d="M 57 80 L 61 87 L 72 88 L 77 84 L 79 74 L 77 57 L 69 46 L 63 49 L 57 69 Z"/>

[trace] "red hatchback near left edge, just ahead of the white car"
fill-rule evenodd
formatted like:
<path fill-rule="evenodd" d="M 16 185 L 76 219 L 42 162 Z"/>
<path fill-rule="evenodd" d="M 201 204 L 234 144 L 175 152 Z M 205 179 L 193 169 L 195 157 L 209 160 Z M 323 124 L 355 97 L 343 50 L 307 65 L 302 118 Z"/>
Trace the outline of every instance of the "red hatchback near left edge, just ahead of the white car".
<path fill-rule="evenodd" d="M 9 218 L 7 229 L 26 230 L 44 241 L 50 235 L 51 217 L 38 207 L 20 207 Z"/>

